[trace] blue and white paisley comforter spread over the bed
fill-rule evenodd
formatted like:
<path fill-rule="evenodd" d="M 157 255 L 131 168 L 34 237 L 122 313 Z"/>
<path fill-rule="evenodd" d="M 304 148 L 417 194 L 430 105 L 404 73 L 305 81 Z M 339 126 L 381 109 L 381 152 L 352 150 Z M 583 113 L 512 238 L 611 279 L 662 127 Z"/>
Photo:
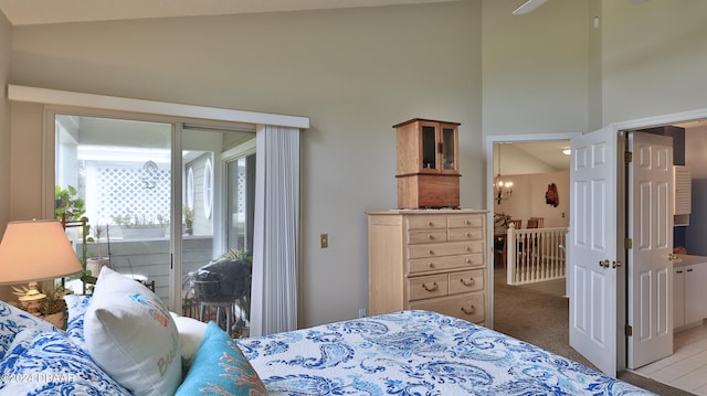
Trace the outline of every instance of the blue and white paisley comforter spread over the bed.
<path fill-rule="evenodd" d="M 238 344 L 270 395 L 651 395 L 535 345 L 428 311 Z"/>

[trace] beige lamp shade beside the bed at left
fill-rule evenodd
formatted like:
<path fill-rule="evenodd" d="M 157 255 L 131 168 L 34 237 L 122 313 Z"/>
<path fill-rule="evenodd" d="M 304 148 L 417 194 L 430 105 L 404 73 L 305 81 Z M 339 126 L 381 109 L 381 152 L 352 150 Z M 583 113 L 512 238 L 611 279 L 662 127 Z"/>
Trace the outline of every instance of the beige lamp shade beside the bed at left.
<path fill-rule="evenodd" d="M 0 285 L 55 279 L 82 270 L 61 222 L 8 223 L 0 243 Z"/>

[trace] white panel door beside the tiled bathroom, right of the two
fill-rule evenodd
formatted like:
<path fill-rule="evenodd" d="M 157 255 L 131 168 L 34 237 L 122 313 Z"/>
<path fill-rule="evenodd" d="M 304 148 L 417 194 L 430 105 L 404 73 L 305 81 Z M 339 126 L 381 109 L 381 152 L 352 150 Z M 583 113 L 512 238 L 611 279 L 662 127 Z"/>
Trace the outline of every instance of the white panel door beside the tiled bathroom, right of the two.
<path fill-rule="evenodd" d="M 673 354 L 673 139 L 629 133 L 629 368 Z"/>

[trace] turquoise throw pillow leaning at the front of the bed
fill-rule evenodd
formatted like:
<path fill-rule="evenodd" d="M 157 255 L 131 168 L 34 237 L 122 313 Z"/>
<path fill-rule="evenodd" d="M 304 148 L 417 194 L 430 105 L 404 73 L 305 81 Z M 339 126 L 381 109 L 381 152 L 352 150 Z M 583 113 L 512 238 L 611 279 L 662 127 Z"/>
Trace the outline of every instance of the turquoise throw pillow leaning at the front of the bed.
<path fill-rule="evenodd" d="M 193 395 L 267 395 L 251 363 L 215 322 L 209 322 L 194 361 L 176 394 Z"/>

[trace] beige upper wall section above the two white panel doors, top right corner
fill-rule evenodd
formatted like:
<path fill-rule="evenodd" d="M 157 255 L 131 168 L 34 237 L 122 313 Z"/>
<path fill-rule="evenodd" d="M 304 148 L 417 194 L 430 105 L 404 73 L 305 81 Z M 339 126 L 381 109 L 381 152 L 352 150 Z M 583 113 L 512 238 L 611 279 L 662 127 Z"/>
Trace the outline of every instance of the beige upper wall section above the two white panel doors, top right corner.
<path fill-rule="evenodd" d="M 603 125 L 707 108 L 707 1 L 602 0 Z"/>

